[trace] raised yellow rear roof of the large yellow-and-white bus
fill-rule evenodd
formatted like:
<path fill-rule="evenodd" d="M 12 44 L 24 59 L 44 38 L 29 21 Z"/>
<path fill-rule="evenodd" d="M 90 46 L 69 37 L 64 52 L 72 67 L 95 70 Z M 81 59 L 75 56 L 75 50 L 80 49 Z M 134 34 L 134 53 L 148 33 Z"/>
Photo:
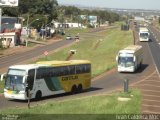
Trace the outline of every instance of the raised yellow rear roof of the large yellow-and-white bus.
<path fill-rule="evenodd" d="M 69 61 L 40 61 L 36 64 L 49 65 L 49 66 L 63 66 L 63 65 L 77 65 L 77 64 L 90 64 L 88 60 L 69 60 Z"/>

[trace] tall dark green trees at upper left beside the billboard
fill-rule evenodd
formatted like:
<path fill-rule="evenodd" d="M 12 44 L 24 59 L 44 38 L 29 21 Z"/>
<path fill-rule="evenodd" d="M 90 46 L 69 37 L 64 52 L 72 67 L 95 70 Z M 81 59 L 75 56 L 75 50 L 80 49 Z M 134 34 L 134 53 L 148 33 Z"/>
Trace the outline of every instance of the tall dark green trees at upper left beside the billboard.
<path fill-rule="evenodd" d="M 19 0 L 19 6 L 16 8 L 4 7 L 3 15 L 18 17 L 25 14 L 41 14 L 47 15 L 51 21 L 57 17 L 57 6 L 57 0 Z"/>

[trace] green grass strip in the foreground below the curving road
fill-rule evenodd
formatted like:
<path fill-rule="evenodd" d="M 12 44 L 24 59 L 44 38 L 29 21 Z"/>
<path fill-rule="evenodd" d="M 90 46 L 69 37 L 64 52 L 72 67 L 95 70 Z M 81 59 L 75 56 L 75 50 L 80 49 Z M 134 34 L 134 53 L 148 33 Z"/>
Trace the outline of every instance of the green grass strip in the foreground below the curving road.
<path fill-rule="evenodd" d="M 68 115 L 68 117 L 73 120 L 80 120 L 83 117 L 82 114 L 86 114 L 84 116 L 87 116 L 87 114 L 95 114 L 98 118 L 107 117 L 104 114 L 140 114 L 140 91 L 131 90 L 130 94 L 132 94 L 133 97 L 130 101 L 125 102 L 117 100 L 121 94 L 121 92 L 117 92 L 111 95 L 91 96 L 61 102 L 52 101 L 44 105 L 31 107 L 31 109 L 13 108 L 0 110 L 0 114 L 18 114 L 23 116 L 25 119 L 32 118 L 35 120 L 42 120 L 42 118 L 47 117 L 47 115 L 49 119 L 50 114 L 55 114 L 55 116 L 57 115 L 59 118 L 63 118 L 65 115 Z M 36 114 L 38 114 L 37 116 L 42 116 L 35 116 L 34 118 L 33 116 Z M 47 115 L 45 116 L 44 114 Z M 77 115 L 78 118 L 73 114 L 79 114 Z M 72 116 L 74 116 L 74 118 L 72 118 Z M 95 116 L 92 117 L 92 115 L 88 116 L 88 118 L 91 120 L 97 119 Z"/>

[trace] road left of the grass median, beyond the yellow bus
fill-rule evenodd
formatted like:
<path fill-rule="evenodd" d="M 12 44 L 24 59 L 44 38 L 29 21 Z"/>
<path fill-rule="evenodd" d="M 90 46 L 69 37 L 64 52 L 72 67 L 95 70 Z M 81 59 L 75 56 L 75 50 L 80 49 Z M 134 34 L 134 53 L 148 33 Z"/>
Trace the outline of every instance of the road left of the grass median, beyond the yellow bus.
<path fill-rule="evenodd" d="M 60 47 L 67 46 L 73 43 L 71 40 L 62 40 L 58 42 L 54 42 L 49 45 L 43 45 L 36 47 L 32 51 L 21 52 L 19 54 L 14 54 L 10 56 L 6 56 L 0 59 L 0 72 L 3 73 L 7 70 L 7 68 L 11 65 L 20 63 L 22 61 L 26 61 L 28 59 L 35 58 L 36 56 L 41 56 L 45 51 L 55 51 Z"/>

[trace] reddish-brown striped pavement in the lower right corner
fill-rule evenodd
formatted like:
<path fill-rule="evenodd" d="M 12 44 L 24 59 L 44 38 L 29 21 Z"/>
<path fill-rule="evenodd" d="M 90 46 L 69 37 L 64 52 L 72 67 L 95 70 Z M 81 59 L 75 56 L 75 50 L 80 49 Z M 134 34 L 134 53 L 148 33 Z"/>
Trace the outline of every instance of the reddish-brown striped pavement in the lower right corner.
<path fill-rule="evenodd" d="M 160 77 L 157 71 L 137 82 L 133 87 L 142 93 L 142 113 L 160 114 Z"/>

